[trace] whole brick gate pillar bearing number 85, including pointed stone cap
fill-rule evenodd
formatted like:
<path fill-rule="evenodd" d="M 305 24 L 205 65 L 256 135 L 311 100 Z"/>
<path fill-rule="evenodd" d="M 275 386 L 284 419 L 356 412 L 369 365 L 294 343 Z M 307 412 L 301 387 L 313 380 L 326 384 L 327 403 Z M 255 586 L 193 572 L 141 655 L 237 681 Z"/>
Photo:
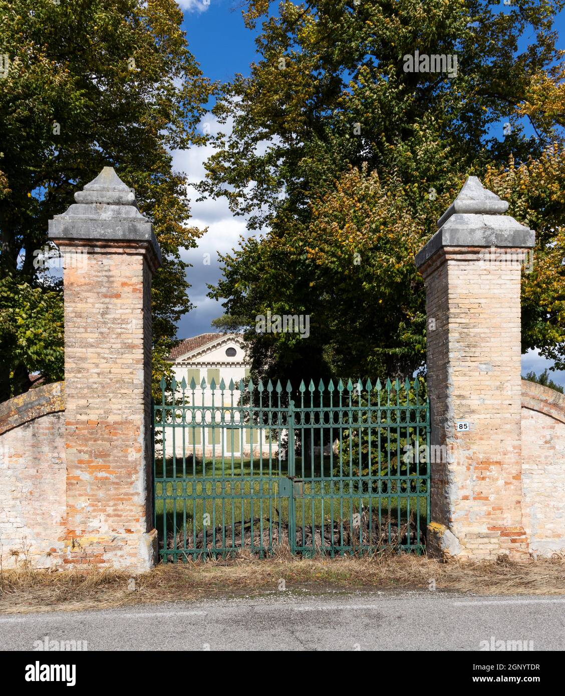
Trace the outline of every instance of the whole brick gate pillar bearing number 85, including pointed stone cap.
<path fill-rule="evenodd" d="M 534 232 L 469 177 L 416 256 L 426 285 L 431 553 L 525 555 L 520 268 Z M 457 429 L 457 421 L 466 422 Z"/>

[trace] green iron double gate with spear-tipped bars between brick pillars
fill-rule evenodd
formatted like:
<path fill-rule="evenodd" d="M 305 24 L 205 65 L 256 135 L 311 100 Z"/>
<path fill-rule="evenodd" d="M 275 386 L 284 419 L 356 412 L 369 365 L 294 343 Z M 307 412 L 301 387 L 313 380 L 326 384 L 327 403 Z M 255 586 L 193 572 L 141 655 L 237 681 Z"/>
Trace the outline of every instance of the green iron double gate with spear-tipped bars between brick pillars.
<path fill-rule="evenodd" d="M 192 379 L 154 405 L 161 557 L 344 555 L 424 548 L 429 405 L 422 384 L 226 387 Z M 174 395 L 174 398 L 173 398 Z"/>

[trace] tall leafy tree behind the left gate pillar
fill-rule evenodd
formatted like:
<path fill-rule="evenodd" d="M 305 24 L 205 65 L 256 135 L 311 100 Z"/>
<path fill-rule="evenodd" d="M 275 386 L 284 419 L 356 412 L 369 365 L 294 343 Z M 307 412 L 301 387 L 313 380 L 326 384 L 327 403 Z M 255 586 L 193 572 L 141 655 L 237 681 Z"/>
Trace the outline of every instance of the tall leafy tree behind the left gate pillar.
<path fill-rule="evenodd" d="M 205 142 L 197 127 L 211 92 L 182 18 L 174 0 L 0 0 L 8 56 L 0 79 L 0 287 L 8 288 L 0 319 L 9 329 L 0 400 L 29 387 L 16 372 L 63 376 L 58 331 L 36 330 L 48 326 L 60 287 L 34 267 L 33 252 L 47 244 L 47 221 L 104 165 L 135 187 L 163 251 L 153 284 L 155 381 L 165 369 L 175 322 L 191 306 L 179 248 L 195 246 L 201 233 L 186 225 L 186 175 L 173 172 L 170 151 Z M 19 299 L 10 303 L 10 292 L 37 300 L 33 317 L 19 315 L 31 335 L 17 351 L 10 317 Z"/>

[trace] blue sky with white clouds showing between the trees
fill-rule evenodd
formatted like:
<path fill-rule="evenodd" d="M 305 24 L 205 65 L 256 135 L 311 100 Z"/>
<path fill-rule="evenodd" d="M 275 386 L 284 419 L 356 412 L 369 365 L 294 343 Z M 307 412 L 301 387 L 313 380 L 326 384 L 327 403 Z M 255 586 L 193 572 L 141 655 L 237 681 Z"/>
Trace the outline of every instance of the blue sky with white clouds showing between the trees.
<path fill-rule="evenodd" d="M 228 81 L 236 72 L 249 73 L 250 63 L 255 60 L 254 33 L 246 29 L 237 0 L 177 0 L 184 10 L 183 29 L 189 48 L 200 68 L 212 80 Z M 502 5 L 502 2 L 501 2 Z M 502 8 L 504 11 L 504 8 Z M 565 13 L 557 22 L 559 44 L 565 48 Z M 521 47 L 520 47 L 521 48 Z M 215 122 L 207 117 L 212 132 Z M 196 182 L 204 175 L 202 162 L 211 154 L 210 148 L 193 148 L 174 153 L 173 166 L 185 171 L 189 180 Z M 196 202 L 193 198 L 191 223 L 200 228 L 208 227 L 207 234 L 200 239 L 197 249 L 184 251 L 183 258 L 193 264 L 189 269 L 189 292 L 195 309 L 184 315 L 179 322 L 177 336 L 186 338 L 210 331 L 210 321 L 220 316 L 221 306 L 207 298 L 207 283 L 215 283 L 221 275 L 217 253 L 229 251 L 237 246 L 239 235 L 247 235 L 243 218 L 234 217 L 225 200 L 206 200 Z M 209 265 L 205 264 L 206 254 L 210 255 Z M 523 372 L 541 372 L 548 361 L 530 352 L 523 356 Z M 565 385 L 565 372 L 553 373 L 552 379 Z"/>

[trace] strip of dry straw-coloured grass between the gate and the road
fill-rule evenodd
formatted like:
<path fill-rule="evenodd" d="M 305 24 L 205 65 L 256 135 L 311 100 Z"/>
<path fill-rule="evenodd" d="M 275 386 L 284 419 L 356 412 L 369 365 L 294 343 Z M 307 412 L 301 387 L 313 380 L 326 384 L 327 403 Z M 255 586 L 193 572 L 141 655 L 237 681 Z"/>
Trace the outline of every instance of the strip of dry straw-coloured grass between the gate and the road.
<path fill-rule="evenodd" d="M 34 571 L 22 565 L 0 573 L 0 613 L 84 610 L 166 601 L 264 594 L 278 590 L 436 590 L 472 594 L 565 594 L 565 558 L 514 563 L 449 562 L 384 553 L 373 557 L 299 559 L 288 551 L 257 560 L 207 560 L 159 565 L 137 576 L 128 589 L 123 572 L 81 570 Z"/>

